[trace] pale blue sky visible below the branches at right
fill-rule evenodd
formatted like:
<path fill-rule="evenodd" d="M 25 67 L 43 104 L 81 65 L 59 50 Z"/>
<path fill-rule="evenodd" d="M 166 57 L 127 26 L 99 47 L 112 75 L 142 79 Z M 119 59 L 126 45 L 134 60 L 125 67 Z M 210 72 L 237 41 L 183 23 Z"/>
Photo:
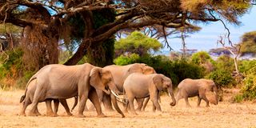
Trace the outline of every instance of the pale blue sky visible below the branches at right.
<path fill-rule="evenodd" d="M 244 14 L 242 18 L 239 18 L 242 22 L 241 26 L 227 25 L 230 29 L 230 40 L 233 43 L 240 42 L 242 34 L 256 30 L 256 6 L 254 6 L 247 14 Z M 197 49 L 198 51 L 209 51 L 213 48 L 222 47 L 217 45 L 217 40 L 220 35 L 226 34 L 226 30 L 222 25 L 222 22 L 212 22 L 208 25 L 199 25 L 202 27 L 198 33 L 190 34 L 189 38 L 186 38 L 187 49 Z M 171 38 L 168 40 L 170 46 L 174 51 L 181 51 L 182 40 L 180 38 Z M 168 54 L 169 49 L 166 47 L 162 49 L 162 54 Z"/>

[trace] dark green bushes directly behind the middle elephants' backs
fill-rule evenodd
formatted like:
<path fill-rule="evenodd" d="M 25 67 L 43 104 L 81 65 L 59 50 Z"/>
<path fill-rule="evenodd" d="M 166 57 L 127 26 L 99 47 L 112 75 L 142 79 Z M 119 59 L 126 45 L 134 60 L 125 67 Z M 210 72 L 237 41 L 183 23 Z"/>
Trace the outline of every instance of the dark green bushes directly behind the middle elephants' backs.
<path fill-rule="evenodd" d="M 120 56 L 114 60 L 117 65 L 127 65 L 134 62 L 146 63 L 148 66 L 152 66 L 158 74 L 165 74 L 171 78 L 174 86 L 178 85 L 185 78 L 203 78 L 204 68 L 198 66 L 193 62 L 187 62 L 186 60 L 170 61 L 166 56 L 142 56 L 138 54 L 131 54 L 130 56 Z"/>

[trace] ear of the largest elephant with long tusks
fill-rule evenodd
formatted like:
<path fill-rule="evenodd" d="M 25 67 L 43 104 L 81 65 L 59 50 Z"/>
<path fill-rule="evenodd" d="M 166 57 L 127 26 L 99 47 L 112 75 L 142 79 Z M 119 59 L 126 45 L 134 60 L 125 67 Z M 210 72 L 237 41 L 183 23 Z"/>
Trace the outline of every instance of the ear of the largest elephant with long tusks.
<path fill-rule="evenodd" d="M 90 70 L 90 85 L 95 89 L 103 90 L 104 92 L 108 93 L 102 83 L 102 68 L 94 67 L 92 70 Z"/>

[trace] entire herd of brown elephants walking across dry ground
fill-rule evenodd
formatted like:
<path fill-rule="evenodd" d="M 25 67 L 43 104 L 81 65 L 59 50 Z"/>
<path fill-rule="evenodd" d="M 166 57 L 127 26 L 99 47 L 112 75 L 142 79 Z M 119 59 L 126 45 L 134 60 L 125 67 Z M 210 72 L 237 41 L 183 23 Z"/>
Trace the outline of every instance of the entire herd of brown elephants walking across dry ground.
<path fill-rule="evenodd" d="M 206 106 L 209 101 L 206 98 L 207 91 L 215 94 L 215 104 L 218 104 L 217 87 L 214 82 L 207 79 L 186 78 L 178 85 L 178 94 L 174 98 L 173 86 L 170 78 L 163 74 L 157 74 L 154 68 L 144 63 L 134 63 L 126 66 L 105 66 L 98 67 L 89 63 L 77 66 L 64 66 L 52 64 L 42 67 L 34 74 L 26 85 L 25 94 L 22 95 L 22 110 L 20 115 L 26 115 L 26 107 L 31 104 L 29 115 L 40 115 L 38 102 L 46 102 L 46 115 L 57 116 L 58 104 L 61 102 L 66 113 L 70 113 L 66 103 L 67 98 L 75 98 L 74 107 L 78 104 L 77 117 L 84 117 L 86 101 L 89 98 L 94 105 L 98 117 L 105 117 L 102 113 L 101 104 L 106 110 L 115 110 L 122 115 L 118 106 L 118 101 L 123 103 L 124 111 L 128 108 L 132 114 L 136 114 L 134 109 L 134 99 L 138 102 L 137 110 L 144 110 L 146 103 L 153 102 L 153 110 L 161 111 L 159 105 L 160 92 L 167 90 L 172 102 L 170 106 L 175 106 L 178 100 L 185 98 L 186 106 L 190 106 L 188 98 L 198 96 L 198 106 L 203 99 Z M 123 95 L 123 97 L 121 97 Z M 54 110 L 51 102 L 54 101 Z M 143 103 L 144 102 L 144 103 Z"/>

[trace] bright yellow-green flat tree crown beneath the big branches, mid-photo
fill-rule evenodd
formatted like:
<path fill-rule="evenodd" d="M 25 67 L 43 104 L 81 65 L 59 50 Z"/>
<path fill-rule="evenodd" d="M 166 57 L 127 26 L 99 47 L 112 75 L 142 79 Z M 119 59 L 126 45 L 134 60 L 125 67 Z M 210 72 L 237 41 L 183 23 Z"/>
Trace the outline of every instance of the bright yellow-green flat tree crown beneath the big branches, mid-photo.
<path fill-rule="evenodd" d="M 157 51 L 162 47 L 162 44 L 154 38 L 149 38 L 141 32 L 134 31 L 127 38 L 121 38 L 115 42 L 114 48 L 117 55 L 135 53 L 145 55 L 150 50 Z"/>

